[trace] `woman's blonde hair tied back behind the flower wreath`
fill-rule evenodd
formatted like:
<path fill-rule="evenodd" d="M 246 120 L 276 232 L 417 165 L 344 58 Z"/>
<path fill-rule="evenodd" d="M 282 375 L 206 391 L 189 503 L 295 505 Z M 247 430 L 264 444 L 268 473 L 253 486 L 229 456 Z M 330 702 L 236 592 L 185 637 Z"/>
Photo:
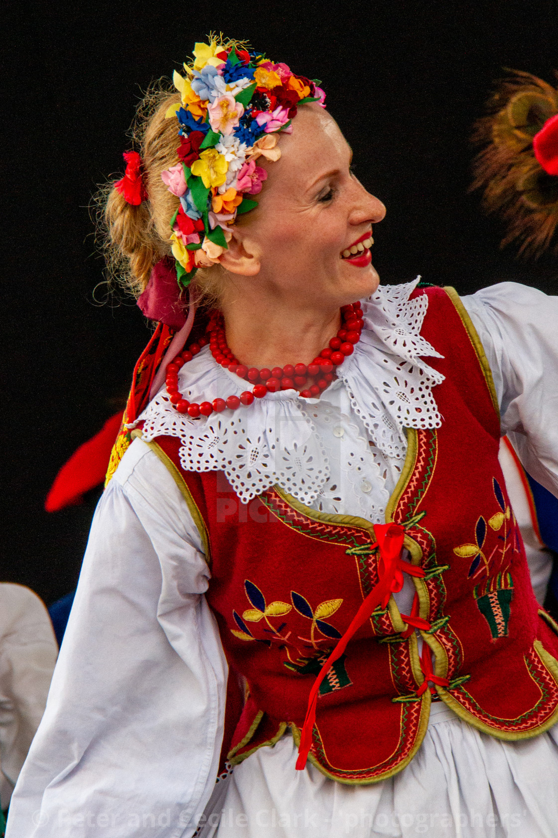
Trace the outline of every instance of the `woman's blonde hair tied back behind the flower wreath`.
<path fill-rule="evenodd" d="M 146 91 L 131 126 L 131 141 L 143 160 L 143 182 L 149 199 L 128 204 L 110 182 L 95 197 L 97 230 L 105 254 L 109 282 L 117 282 L 139 297 L 151 269 L 171 256 L 171 218 L 180 202 L 166 189 L 161 172 L 179 163 L 177 118 L 165 118 L 168 107 L 180 101 L 170 80 L 161 79 Z M 200 302 L 218 303 L 225 272 L 220 265 L 198 269 L 192 285 Z"/>

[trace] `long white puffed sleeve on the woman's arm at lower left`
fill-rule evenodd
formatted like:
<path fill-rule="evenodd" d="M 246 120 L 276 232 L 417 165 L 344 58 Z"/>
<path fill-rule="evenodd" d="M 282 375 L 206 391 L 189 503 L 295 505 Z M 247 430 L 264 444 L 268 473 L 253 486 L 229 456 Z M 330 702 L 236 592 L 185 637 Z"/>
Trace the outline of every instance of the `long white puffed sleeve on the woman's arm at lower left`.
<path fill-rule="evenodd" d="M 7 838 L 188 838 L 212 794 L 227 663 L 187 504 L 141 440 L 100 499 Z"/>

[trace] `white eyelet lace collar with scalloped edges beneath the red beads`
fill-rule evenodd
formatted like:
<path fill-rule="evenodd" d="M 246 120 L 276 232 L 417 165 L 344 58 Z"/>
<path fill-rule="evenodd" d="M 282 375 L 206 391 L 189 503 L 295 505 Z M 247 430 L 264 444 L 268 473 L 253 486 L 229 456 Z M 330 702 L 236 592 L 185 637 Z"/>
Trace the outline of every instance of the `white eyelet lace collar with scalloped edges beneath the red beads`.
<path fill-rule="evenodd" d="M 432 388 L 443 375 L 419 356 L 443 356 L 420 334 L 426 294 L 409 300 L 419 279 L 381 286 L 362 303 L 361 340 L 338 368 L 339 380 L 319 400 L 335 402 L 335 391 L 345 386 L 371 443 L 387 458 L 405 457 L 403 428 L 441 425 Z M 212 401 L 223 392 L 239 396 L 246 389 L 246 381 L 215 363 L 208 347 L 182 367 L 179 385 L 188 401 L 197 402 Z M 147 442 L 160 436 L 181 439 L 185 470 L 224 471 L 243 503 L 279 484 L 311 505 L 323 496 L 330 479 L 329 458 L 310 418 L 316 401 L 294 390 L 279 391 L 254 400 L 246 409 L 192 419 L 177 413 L 163 388 L 138 422 L 144 422 Z"/>

